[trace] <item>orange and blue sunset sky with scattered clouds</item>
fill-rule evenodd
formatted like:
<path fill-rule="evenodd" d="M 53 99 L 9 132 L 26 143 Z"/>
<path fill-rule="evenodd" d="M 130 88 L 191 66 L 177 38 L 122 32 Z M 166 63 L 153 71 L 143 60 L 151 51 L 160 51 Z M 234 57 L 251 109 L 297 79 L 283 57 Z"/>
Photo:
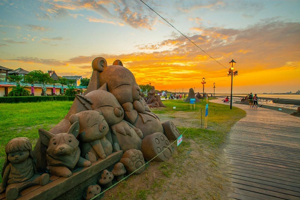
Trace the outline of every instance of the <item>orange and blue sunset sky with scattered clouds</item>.
<path fill-rule="evenodd" d="M 300 89 L 300 0 L 142 1 L 0 0 L 0 65 L 89 78 L 101 56 L 138 84 L 229 93 L 234 59 L 233 93 Z"/>

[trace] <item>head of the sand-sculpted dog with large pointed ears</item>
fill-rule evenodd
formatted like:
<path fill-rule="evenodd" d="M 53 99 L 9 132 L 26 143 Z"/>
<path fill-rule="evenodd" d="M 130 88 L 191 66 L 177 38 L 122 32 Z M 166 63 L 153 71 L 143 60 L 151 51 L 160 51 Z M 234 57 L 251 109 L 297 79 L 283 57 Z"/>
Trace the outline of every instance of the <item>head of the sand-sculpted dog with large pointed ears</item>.
<path fill-rule="evenodd" d="M 78 121 L 66 133 L 52 134 L 38 129 L 41 143 L 47 146 L 46 160 L 49 166 L 66 166 L 70 169 L 75 166 L 80 156 L 79 141 L 76 139 L 78 133 Z"/>

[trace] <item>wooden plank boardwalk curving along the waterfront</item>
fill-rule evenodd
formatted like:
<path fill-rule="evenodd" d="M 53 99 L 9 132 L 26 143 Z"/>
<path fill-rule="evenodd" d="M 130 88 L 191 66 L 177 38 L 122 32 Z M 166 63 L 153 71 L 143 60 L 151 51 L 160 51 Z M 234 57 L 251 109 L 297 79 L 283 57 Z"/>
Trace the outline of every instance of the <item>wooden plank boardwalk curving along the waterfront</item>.
<path fill-rule="evenodd" d="M 220 99 L 210 102 L 223 103 Z M 229 109 L 229 103 L 228 104 Z M 300 199 L 300 118 L 250 108 L 235 123 L 225 147 L 232 199 Z"/>

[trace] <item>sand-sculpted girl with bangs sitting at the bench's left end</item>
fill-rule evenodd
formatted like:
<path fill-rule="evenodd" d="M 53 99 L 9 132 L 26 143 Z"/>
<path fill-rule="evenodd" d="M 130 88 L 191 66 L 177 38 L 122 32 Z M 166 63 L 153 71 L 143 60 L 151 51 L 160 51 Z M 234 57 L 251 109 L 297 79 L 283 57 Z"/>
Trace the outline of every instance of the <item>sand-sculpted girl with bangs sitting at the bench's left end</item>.
<path fill-rule="evenodd" d="M 31 185 L 45 185 L 49 174 L 35 173 L 32 146 L 27 137 L 11 139 L 5 146 L 6 158 L 2 169 L 0 193 L 6 187 L 6 199 L 16 199 L 18 192 Z"/>

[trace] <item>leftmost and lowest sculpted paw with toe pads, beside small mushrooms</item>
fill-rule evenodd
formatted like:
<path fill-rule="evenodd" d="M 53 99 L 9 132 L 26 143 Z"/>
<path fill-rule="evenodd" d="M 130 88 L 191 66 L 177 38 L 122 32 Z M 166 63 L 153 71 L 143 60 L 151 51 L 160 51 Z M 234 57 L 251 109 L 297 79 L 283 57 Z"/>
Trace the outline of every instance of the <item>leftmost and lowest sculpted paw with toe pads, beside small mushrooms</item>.
<path fill-rule="evenodd" d="M 139 174 L 145 170 L 143 155 L 140 150 L 134 148 L 125 151 L 120 162 L 124 164 L 128 173 L 134 171 L 134 174 Z"/>

